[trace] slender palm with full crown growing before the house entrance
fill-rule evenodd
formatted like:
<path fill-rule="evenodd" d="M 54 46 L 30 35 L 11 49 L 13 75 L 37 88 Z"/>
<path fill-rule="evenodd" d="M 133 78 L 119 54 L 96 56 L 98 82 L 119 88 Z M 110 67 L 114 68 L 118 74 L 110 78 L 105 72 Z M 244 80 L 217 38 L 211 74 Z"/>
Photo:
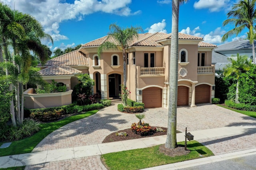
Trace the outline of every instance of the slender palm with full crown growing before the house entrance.
<path fill-rule="evenodd" d="M 123 84 L 124 84 L 124 87 L 126 87 L 126 80 L 127 80 L 126 48 L 134 40 L 134 38 L 136 37 L 138 38 L 138 32 L 139 31 L 142 32 L 143 29 L 141 27 L 132 27 L 132 26 L 130 28 L 122 29 L 116 24 L 110 24 L 109 29 L 110 29 L 110 33 L 108 33 L 107 40 L 110 37 L 112 37 L 116 41 L 116 43 L 113 43 L 110 41 L 105 41 L 104 43 L 102 43 L 100 47 L 98 47 L 98 57 L 100 57 L 100 54 L 104 50 L 120 49 L 122 51 L 122 56 L 124 61 L 123 62 L 123 69 L 124 69 Z"/>

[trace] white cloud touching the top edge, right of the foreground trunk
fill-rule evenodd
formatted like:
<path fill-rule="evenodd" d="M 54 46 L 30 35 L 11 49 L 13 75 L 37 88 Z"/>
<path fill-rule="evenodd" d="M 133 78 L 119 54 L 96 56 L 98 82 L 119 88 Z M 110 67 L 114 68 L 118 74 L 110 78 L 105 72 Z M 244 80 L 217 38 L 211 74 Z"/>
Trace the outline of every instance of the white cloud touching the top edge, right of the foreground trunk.
<path fill-rule="evenodd" d="M 194 8 L 209 8 L 210 12 L 218 12 L 222 9 L 229 9 L 230 6 L 230 0 L 199 0 L 194 3 Z"/>

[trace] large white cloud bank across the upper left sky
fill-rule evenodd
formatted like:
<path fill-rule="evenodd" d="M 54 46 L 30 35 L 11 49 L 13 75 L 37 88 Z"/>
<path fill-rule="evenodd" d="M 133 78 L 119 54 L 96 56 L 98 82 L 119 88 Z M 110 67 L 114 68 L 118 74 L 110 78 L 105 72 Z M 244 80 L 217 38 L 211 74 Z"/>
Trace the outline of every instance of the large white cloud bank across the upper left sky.
<path fill-rule="evenodd" d="M 120 16 L 140 13 L 140 11 L 132 12 L 128 7 L 132 0 L 75 0 L 72 4 L 66 3 L 66 0 L 7 0 L 5 3 L 14 7 L 14 2 L 16 10 L 34 16 L 42 23 L 46 33 L 50 35 L 60 33 L 59 26 L 61 22 L 82 20 L 85 15 L 95 12 Z"/>

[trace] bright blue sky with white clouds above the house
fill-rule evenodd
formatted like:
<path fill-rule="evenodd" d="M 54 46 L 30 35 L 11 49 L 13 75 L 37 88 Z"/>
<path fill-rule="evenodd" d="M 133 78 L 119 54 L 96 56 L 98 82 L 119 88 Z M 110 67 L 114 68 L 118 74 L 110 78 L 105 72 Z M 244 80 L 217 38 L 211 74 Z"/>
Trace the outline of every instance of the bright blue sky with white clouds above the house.
<path fill-rule="evenodd" d="M 42 23 L 57 47 L 74 47 L 107 35 L 109 25 L 141 26 L 146 32 L 171 33 L 171 0 L 2 0 L 11 8 L 28 13 Z M 179 31 L 222 44 L 222 35 L 234 26 L 222 26 L 237 0 L 190 0 L 180 6 Z M 245 38 L 244 30 L 238 37 Z M 227 42 L 228 42 L 227 41 Z"/>

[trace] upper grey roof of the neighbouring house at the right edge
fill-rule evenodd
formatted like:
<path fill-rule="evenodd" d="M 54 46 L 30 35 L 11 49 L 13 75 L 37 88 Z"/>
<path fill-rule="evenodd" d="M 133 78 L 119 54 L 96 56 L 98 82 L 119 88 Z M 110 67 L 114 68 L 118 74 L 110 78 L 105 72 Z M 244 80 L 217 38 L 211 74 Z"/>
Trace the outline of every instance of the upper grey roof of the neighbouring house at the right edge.
<path fill-rule="evenodd" d="M 256 47 L 256 41 L 254 40 L 254 45 Z M 229 43 L 225 43 L 222 45 L 219 45 L 218 48 L 214 49 L 214 51 L 218 51 L 222 54 L 229 54 L 231 53 L 246 53 L 248 51 L 249 53 L 252 52 L 252 45 L 250 44 L 249 40 L 236 40 L 231 41 Z"/>

